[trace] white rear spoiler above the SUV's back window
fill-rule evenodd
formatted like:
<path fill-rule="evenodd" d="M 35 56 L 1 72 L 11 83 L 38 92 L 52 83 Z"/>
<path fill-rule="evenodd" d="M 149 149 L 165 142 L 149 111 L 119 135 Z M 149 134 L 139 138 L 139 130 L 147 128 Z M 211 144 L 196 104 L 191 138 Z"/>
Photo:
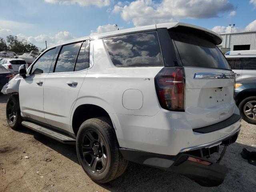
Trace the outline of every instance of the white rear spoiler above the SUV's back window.
<path fill-rule="evenodd" d="M 199 26 L 195 26 L 195 25 L 191 25 L 191 24 L 187 24 L 187 23 L 181 23 L 181 22 L 176 22 L 176 23 L 160 23 L 160 24 L 156 24 L 156 28 L 167 28 L 167 29 L 171 29 L 171 28 L 192 28 L 194 30 L 198 30 L 198 32 L 204 32 L 207 36 L 209 36 L 210 39 L 212 39 L 212 42 L 216 45 L 221 44 L 222 42 L 222 37 L 220 35 L 218 35 L 217 33 L 213 32 L 212 30 L 203 28 L 203 27 L 199 27 Z"/>

